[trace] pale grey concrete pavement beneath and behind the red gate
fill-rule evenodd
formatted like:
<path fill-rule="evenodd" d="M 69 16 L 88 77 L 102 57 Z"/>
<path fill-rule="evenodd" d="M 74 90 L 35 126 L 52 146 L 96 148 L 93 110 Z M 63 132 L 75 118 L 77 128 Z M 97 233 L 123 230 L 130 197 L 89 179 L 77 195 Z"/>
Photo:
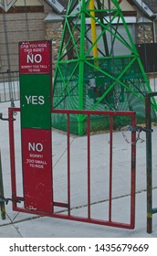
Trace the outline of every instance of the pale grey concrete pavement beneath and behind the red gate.
<path fill-rule="evenodd" d="M 16 102 L 18 106 L 19 102 Z M 0 112 L 7 117 L 8 103 L 1 103 Z M 126 132 L 130 141 L 130 132 Z M 12 203 L 6 205 L 6 219 L 0 219 L 0 238 L 156 238 L 157 214 L 153 215 L 152 234 L 146 232 L 146 143 L 137 143 L 136 159 L 136 213 L 135 229 L 120 229 L 66 219 L 40 217 L 12 210 Z M 153 208 L 157 208 L 157 127 L 152 133 L 153 163 Z M 22 193 L 20 117 L 16 115 L 16 171 L 17 187 Z M 53 131 L 54 197 L 66 201 L 67 159 L 66 134 Z M 121 132 L 113 133 L 113 204 L 112 219 L 130 221 L 131 144 L 127 144 Z M 71 208 L 72 214 L 87 215 L 87 137 L 71 135 Z M 11 197 L 8 123 L 0 121 L 0 149 L 4 176 L 5 197 Z M 109 207 L 109 133 L 91 136 L 91 212 L 94 218 L 108 217 Z M 60 210 L 57 208 L 57 211 Z M 63 208 L 63 212 L 66 209 Z"/>

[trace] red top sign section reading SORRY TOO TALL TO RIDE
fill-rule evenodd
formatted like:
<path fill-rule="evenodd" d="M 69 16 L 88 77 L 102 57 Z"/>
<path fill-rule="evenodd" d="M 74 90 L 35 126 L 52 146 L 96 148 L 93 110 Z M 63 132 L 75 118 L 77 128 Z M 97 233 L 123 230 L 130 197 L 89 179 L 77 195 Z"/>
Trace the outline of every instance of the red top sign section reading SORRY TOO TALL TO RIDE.
<path fill-rule="evenodd" d="M 22 42 L 19 44 L 19 68 L 21 74 L 47 74 L 51 71 L 51 47 L 49 41 Z"/>

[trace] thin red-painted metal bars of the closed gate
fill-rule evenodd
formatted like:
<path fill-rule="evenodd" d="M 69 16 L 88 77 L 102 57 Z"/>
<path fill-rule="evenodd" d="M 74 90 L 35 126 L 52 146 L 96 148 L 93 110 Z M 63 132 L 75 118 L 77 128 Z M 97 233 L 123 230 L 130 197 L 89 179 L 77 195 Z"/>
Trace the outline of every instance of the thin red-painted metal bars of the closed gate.
<path fill-rule="evenodd" d="M 14 112 L 20 112 L 19 108 L 9 108 L 9 140 L 10 140 L 10 160 L 11 160 L 11 184 L 12 184 L 12 200 L 13 200 L 13 209 L 19 212 L 27 212 L 32 214 L 37 214 L 40 216 L 48 216 L 53 218 L 59 218 L 59 219 L 71 219 L 71 220 L 77 220 L 82 222 L 88 222 L 93 224 L 100 224 L 100 225 L 106 225 L 111 227 L 119 227 L 124 229 L 133 229 L 135 225 L 135 164 L 136 164 L 136 132 L 131 132 L 131 198 L 129 199 L 131 202 L 131 208 L 130 210 L 130 221 L 129 223 L 121 223 L 117 221 L 113 221 L 112 219 L 112 143 L 113 143 L 113 118 L 117 115 L 119 116 L 129 116 L 131 118 L 131 125 L 135 126 L 135 112 L 99 112 L 99 111 L 67 111 L 67 110 L 52 110 L 53 113 L 64 113 L 67 115 L 67 125 L 68 125 L 68 131 L 67 131 L 67 178 L 68 178 L 68 189 L 67 189 L 67 203 L 62 202 L 53 202 L 53 206 L 60 207 L 60 208 L 67 208 L 65 211 L 60 212 L 42 212 L 37 210 L 31 210 L 26 208 L 20 208 L 18 206 L 19 201 L 24 201 L 24 196 L 17 196 L 16 192 L 16 152 L 15 152 L 15 137 L 14 137 Z M 87 131 L 87 159 L 88 159 L 88 166 L 87 166 L 87 174 L 88 174 L 88 182 L 87 182 L 87 208 L 88 208 L 88 216 L 87 217 L 79 217 L 79 216 L 73 216 L 71 211 L 71 193 L 70 193 L 70 186 L 71 186 L 71 180 L 70 180 L 70 173 L 71 173 L 71 145 L 70 145 L 70 133 L 69 133 L 69 125 L 70 125 L 70 115 L 71 114 L 83 114 L 87 116 L 88 119 L 88 131 Z M 98 115 L 104 115 L 110 117 L 110 187 L 109 187 L 109 219 L 93 219 L 91 216 L 91 187 L 90 187 L 90 115 L 98 114 Z M 53 133 L 53 131 L 52 131 Z M 55 148 L 52 150 L 55 151 Z M 65 166 L 66 168 L 66 166 Z M 53 170 L 52 170 L 53 174 Z M 53 192 L 53 191 L 52 191 Z"/>

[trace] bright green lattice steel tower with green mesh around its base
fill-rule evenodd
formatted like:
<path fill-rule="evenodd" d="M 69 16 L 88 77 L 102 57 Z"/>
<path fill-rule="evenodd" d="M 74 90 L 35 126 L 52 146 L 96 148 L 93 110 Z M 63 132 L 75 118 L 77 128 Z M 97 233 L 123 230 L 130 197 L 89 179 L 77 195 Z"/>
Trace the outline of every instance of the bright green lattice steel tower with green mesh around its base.
<path fill-rule="evenodd" d="M 148 91 L 150 83 L 118 0 L 69 0 L 53 83 L 53 108 L 141 113 Z M 154 99 L 152 107 L 157 109 Z M 84 133 L 85 119 L 78 115 L 79 134 Z M 54 118 L 56 127 L 59 122 Z"/>

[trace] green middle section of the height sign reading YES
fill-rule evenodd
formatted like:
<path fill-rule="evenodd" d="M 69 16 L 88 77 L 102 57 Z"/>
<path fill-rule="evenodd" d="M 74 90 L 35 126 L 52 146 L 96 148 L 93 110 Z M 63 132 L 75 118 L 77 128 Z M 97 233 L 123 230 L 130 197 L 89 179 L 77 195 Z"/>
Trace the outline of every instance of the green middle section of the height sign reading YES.
<path fill-rule="evenodd" d="M 50 129 L 51 82 L 48 74 L 21 75 L 22 128 Z"/>

